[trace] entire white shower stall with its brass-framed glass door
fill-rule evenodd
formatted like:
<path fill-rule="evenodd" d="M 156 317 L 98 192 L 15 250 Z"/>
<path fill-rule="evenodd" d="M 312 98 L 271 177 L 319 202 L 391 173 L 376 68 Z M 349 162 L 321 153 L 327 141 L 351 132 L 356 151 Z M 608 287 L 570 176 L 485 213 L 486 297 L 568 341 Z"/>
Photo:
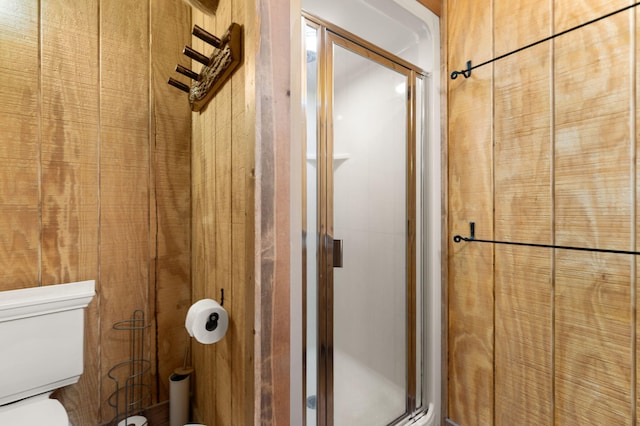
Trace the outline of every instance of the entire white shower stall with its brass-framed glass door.
<path fill-rule="evenodd" d="M 438 21 L 412 1 L 302 6 L 303 418 L 435 424 Z"/>

